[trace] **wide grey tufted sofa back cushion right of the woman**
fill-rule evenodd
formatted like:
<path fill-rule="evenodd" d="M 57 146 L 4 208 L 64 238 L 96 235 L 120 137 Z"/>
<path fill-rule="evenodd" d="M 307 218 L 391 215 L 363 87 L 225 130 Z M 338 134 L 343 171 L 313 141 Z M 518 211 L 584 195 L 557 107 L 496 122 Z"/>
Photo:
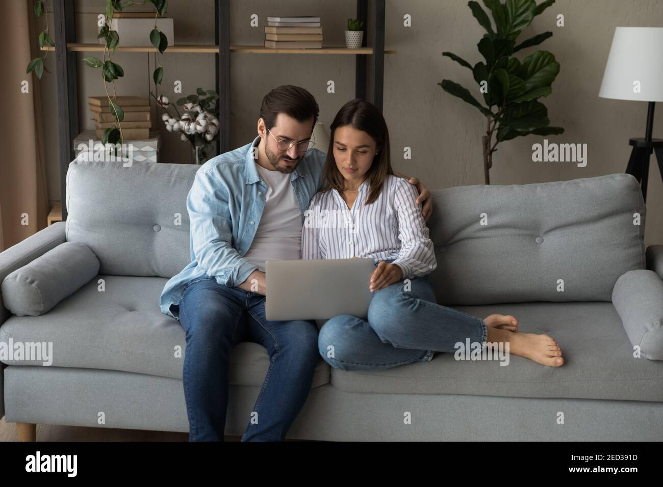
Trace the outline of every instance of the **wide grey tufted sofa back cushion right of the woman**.
<path fill-rule="evenodd" d="M 645 266 L 645 206 L 629 174 L 432 195 L 440 304 L 610 301 L 617 279 Z"/>

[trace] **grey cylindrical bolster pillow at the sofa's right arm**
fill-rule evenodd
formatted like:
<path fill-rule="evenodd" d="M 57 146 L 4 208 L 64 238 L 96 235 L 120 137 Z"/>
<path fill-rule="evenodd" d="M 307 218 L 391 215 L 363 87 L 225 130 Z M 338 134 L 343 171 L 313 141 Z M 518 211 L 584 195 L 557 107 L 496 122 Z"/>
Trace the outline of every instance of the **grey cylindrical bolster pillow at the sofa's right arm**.
<path fill-rule="evenodd" d="M 613 288 L 613 306 L 640 355 L 663 360 L 663 281 L 651 270 L 629 270 Z"/>

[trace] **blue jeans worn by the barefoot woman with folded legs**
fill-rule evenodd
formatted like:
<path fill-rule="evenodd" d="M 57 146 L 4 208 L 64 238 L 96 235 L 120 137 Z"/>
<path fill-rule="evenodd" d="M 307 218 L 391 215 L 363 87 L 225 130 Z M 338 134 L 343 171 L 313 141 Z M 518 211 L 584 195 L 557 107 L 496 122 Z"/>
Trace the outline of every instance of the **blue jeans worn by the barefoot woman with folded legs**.
<path fill-rule="evenodd" d="M 368 284 L 367 284 L 368 285 Z M 409 289 L 409 290 L 408 290 Z M 483 319 L 439 305 L 426 277 L 394 282 L 371 299 L 368 319 L 338 315 L 320 329 L 318 349 L 342 370 L 377 370 L 432 360 L 455 344 L 485 343 Z"/>

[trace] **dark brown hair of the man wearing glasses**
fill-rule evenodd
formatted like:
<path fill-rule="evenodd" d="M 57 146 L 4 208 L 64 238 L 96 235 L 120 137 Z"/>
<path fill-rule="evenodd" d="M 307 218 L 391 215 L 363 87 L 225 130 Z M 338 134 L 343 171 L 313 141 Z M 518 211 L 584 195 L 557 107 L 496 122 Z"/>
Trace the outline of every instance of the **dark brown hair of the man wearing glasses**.
<path fill-rule="evenodd" d="M 307 89 L 294 85 L 280 85 L 263 98 L 260 107 L 260 118 L 265 127 L 272 129 L 276 123 L 276 115 L 285 113 L 298 122 L 305 122 L 313 117 L 313 127 L 318 121 L 318 102 Z"/>

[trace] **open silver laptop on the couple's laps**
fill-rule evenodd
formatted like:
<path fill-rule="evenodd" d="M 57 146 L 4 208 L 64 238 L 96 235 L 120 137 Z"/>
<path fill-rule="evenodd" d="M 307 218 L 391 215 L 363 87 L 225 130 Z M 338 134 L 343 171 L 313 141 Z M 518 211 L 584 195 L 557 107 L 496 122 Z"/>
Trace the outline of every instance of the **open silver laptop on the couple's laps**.
<path fill-rule="evenodd" d="M 372 258 L 269 260 L 265 315 L 269 320 L 365 318 L 373 293 Z"/>

